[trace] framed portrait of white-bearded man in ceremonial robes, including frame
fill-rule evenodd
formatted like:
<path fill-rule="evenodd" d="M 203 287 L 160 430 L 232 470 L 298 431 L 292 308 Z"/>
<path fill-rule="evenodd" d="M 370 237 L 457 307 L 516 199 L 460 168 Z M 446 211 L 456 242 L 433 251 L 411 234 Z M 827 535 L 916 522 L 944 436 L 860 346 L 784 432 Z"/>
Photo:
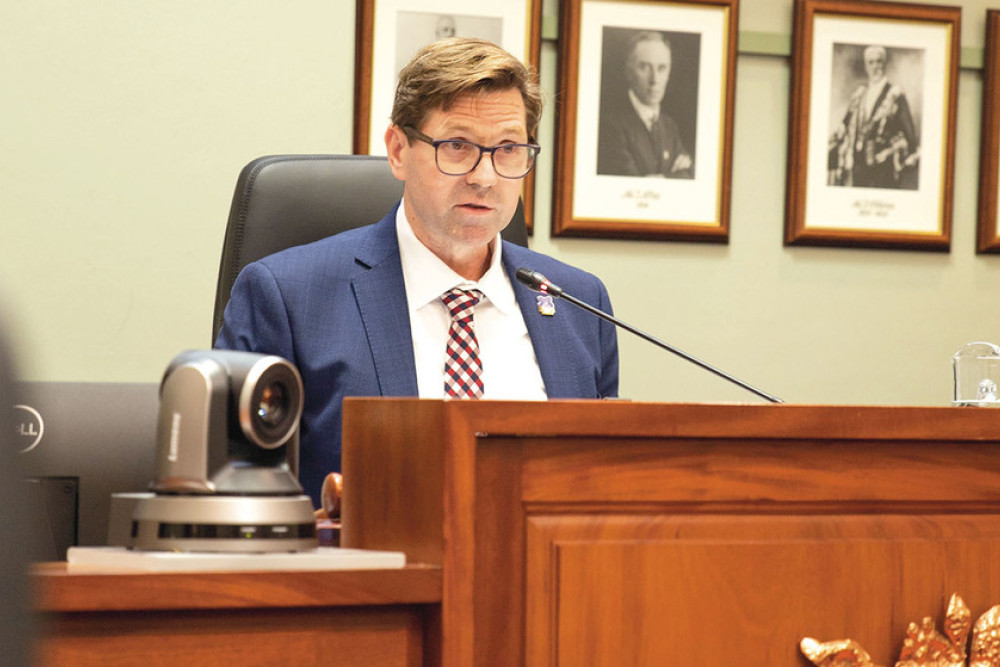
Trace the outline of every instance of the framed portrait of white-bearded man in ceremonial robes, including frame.
<path fill-rule="evenodd" d="M 787 245 L 949 250 L 960 17 L 796 0 Z"/>

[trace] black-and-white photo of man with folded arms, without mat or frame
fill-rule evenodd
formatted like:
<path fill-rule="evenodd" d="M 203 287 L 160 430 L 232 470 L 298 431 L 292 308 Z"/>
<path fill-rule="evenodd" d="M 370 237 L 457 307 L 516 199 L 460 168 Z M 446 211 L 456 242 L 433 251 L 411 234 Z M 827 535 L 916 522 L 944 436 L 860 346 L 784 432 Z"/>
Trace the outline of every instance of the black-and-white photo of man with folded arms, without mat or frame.
<path fill-rule="evenodd" d="M 674 40 L 655 30 L 608 34 L 622 30 L 605 28 L 605 52 L 610 60 L 620 62 L 620 69 L 616 66 L 618 71 L 614 72 L 608 67 L 608 75 L 602 79 L 597 173 L 694 178 L 690 126 L 696 116 L 696 95 L 672 85 L 677 64 L 690 61 L 690 54 L 685 49 L 685 57 L 680 57 L 681 49 Z M 608 53 L 612 43 L 618 44 L 617 59 Z M 674 99 L 668 104 L 671 97 Z M 672 110 L 687 117 L 688 128 L 682 128 Z"/>

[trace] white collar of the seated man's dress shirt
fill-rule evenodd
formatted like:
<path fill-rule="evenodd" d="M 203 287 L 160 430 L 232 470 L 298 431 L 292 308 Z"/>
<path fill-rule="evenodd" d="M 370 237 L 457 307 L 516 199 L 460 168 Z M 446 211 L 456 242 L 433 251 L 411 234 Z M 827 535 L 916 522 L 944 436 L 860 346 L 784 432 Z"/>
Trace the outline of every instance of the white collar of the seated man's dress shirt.
<path fill-rule="evenodd" d="M 455 273 L 447 264 L 425 246 L 413 233 L 402 204 L 396 211 L 396 238 L 403 264 L 406 283 L 406 300 L 416 311 L 454 287 L 478 289 L 494 306 L 504 313 L 514 312 L 517 302 L 507 274 L 501 263 L 503 243 L 497 234 L 493 241 L 490 266 L 478 281 L 467 280 Z"/>

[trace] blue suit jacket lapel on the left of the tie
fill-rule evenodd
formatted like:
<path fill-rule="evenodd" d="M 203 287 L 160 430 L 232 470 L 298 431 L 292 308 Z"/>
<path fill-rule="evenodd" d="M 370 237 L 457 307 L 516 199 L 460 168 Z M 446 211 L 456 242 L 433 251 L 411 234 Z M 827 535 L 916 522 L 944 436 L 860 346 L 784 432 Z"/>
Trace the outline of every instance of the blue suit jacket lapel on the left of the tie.
<path fill-rule="evenodd" d="M 417 370 L 406 303 L 403 266 L 396 240 L 396 209 L 372 227 L 351 281 L 383 396 L 416 396 Z"/>

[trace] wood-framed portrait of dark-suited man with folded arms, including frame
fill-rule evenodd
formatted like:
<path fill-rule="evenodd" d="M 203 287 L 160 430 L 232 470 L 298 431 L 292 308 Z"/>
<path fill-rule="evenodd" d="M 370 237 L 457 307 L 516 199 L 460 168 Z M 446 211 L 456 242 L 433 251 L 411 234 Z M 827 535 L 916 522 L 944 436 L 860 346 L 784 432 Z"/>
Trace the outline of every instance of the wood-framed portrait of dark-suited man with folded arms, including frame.
<path fill-rule="evenodd" d="M 738 0 L 564 0 L 553 234 L 729 236 Z"/>

